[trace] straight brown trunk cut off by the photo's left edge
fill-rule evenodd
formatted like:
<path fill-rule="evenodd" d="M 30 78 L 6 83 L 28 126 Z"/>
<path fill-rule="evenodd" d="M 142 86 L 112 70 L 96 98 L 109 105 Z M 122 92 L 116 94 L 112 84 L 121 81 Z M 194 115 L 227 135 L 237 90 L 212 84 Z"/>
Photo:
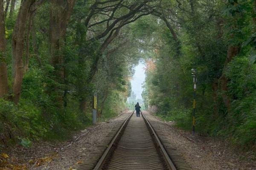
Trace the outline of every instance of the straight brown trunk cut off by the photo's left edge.
<path fill-rule="evenodd" d="M 6 37 L 3 12 L 3 0 L 0 0 L 0 98 L 8 93 L 8 77 L 6 64 Z"/>

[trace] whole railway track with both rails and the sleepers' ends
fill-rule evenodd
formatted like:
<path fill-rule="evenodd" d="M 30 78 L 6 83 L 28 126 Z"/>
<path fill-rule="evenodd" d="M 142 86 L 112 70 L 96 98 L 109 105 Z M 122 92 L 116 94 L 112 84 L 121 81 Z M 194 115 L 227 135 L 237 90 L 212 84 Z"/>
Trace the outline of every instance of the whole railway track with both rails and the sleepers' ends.
<path fill-rule="evenodd" d="M 102 145 L 104 152 L 95 153 L 78 170 L 191 170 L 180 155 L 166 151 L 143 113 L 136 117 L 133 111 L 112 136 Z"/>

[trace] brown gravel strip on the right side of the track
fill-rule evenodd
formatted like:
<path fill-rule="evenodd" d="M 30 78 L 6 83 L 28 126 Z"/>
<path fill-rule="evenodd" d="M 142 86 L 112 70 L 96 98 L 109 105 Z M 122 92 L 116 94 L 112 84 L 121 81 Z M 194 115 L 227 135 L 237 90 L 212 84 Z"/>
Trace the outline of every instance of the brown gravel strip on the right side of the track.
<path fill-rule="evenodd" d="M 221 139 L 193 136 L 177 129 L 174 123 L 161 121 L 146 111 L 143 113 L 154 128 L 162 130 L 192 170 L 256 170 L 252 153 L 236 151 Z"/>

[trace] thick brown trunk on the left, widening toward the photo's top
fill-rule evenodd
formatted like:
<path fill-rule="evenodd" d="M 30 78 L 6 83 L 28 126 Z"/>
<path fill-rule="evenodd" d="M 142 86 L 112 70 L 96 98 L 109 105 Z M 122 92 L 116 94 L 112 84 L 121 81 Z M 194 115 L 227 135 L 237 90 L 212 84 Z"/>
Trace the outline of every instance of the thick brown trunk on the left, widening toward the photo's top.
<path fill-rule="evenodd" d="M 50 0 L 50 62 L 55 68 L 56 81 L 61 84 L 64 83 L 65 77 L 62 47 L 74 5 L 75 0 L 67 0 L 67 2 L 65 0 Z M 63 105 L 63 90 L 55 87 L 55 91 L 59 93 L 56 100 L 61 107 Z"/>

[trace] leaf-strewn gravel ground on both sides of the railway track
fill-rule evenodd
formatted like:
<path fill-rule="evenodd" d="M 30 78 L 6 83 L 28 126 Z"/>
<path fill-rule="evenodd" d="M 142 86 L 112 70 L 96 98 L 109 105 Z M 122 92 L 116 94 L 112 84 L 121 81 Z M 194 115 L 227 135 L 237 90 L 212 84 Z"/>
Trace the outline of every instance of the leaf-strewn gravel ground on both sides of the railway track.
<path fill-rule="evenodd" d="M 116 124 L 123 122 L 130 112 L 123 112 L 108 122 L 100 122 L 76 133 L 65 142 L 35 143 L 30 148 L 16 146 L 1 155 L 0 170 L 75 170 L 97 151 L 105 136 Z M 230 147 L 217 138 L 192 136 L 179 130 L 173 122 L 164 122 L 145 112 L 152 126 L 157 126 L 184 156 L 192 170 L 256 170 L 255 155 Z M 139 118 L 140 119 L 140 118 Z M 72 143 L 72 144 L 71 144 Z M 9 158 L 7 158 L 8 156 Z M 4 158 L 6 157 L 6 158 Z"/>

